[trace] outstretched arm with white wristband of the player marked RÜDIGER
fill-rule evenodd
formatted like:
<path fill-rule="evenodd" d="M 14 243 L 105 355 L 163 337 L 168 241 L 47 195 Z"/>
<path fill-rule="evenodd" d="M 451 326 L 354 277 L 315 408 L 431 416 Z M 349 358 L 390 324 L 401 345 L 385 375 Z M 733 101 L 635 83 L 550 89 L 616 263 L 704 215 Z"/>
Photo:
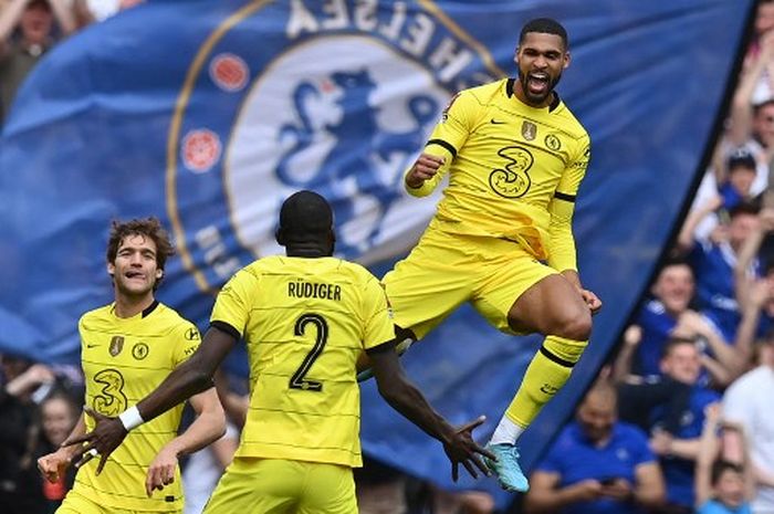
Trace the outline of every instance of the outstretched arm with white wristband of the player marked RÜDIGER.
<path fill-rule="evenodd" d="M 119 418 L 109 418 L 87 410 L 86 412 L 96 421 L 94 430 L 80 438 L 70 438 L 62 444 L 87 442 L 73 459 L 81 455 L 83 460 L 83 455 L 88 458 L 88 453 L 96 450 L 101 457 L 97 473 L 102 472 L 107 457 L 124 441 L 128 430 L 150 421 L 191 396 L 211 388 L 215 370 L 236 340 L 230 332 L 211 326 L 191 358 L 175 368 L 150 395 L 135 407 L 124 411 Z"/>

